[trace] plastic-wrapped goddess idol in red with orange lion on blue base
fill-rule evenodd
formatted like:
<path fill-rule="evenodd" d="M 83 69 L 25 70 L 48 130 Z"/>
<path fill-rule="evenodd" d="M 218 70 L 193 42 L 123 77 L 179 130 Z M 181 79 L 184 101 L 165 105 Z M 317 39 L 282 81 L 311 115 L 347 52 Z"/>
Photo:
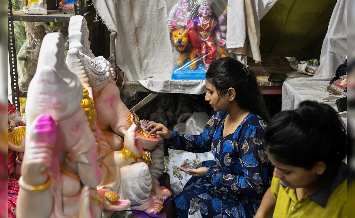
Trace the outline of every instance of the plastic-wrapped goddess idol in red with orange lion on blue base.
<path fill-rule="evenodd" d="M 171 79 L 205 79 L 226 53 L 226 0 L 178 0 L 167 18 L 176 63 Z"/>

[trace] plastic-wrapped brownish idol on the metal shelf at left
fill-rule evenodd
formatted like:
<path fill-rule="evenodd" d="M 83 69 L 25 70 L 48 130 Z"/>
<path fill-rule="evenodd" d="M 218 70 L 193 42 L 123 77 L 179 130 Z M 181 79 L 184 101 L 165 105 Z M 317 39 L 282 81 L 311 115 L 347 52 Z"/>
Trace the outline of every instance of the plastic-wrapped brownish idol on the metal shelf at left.
<path fill-rule="evenodd" d="M 24 41 L 17 55 L 18 86 L 22 90 L 27 90 L 29 82 L 33 78 L 39 55 L 39 49 L 43 37 L 50 33 L 50 28 L 46 23 L 26 22 L 27 39 Z"/>

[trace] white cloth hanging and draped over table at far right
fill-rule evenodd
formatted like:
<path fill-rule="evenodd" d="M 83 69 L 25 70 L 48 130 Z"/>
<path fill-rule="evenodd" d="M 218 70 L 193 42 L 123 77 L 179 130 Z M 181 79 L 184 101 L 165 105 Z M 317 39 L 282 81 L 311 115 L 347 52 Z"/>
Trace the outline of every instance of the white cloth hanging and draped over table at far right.
<path fill-rule="evenodd" d="M 326 102 L 338 111 L 335 100 L 344 96 L 335 96 L 327 91 L 335 71 L 345 61 L 347 48 L 347 0 L 338 0 L 324 38 L 320 67 L 312 78 L 294 78 L 286 80 L 282 86 L 282 110 L 293 110 L 302 101 Z M 346 117 L 346 112 L 344 112 Z M 346 121 L 346 118 L 345 118 Z"/>

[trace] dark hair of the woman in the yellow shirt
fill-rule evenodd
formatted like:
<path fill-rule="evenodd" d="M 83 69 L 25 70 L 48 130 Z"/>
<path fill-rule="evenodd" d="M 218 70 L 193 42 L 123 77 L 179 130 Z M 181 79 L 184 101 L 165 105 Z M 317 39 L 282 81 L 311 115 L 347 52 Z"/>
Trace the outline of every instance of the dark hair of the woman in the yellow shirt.
<path fill-rule="evenodd" d="M 264 134 L 265 148 L 283 164 L 310 170 L 326 163 L 320 181 L 327 181 L 346 157 L 346 129 L 335 110 L 326 104 L 304 101 L 293 111 L 276 114 Z"/>

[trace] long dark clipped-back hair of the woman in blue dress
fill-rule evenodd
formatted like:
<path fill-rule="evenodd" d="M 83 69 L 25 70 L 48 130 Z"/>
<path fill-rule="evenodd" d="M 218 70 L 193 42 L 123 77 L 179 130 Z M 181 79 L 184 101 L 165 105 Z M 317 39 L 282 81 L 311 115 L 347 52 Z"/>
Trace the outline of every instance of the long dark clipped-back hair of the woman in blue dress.
<path fill-rule="evenodd" d="M 246 111 L 261 116 L 266 122 L 270 120 L 263 95 L 257 84 L 255 73 L 232 57 L 223 57 L 211 63 L 206 72 L 206 79 L 225 95 L 229 88 L 235 89 L 238 106 Z M 248 74 L 249 73 L 249 74 Z"/>

